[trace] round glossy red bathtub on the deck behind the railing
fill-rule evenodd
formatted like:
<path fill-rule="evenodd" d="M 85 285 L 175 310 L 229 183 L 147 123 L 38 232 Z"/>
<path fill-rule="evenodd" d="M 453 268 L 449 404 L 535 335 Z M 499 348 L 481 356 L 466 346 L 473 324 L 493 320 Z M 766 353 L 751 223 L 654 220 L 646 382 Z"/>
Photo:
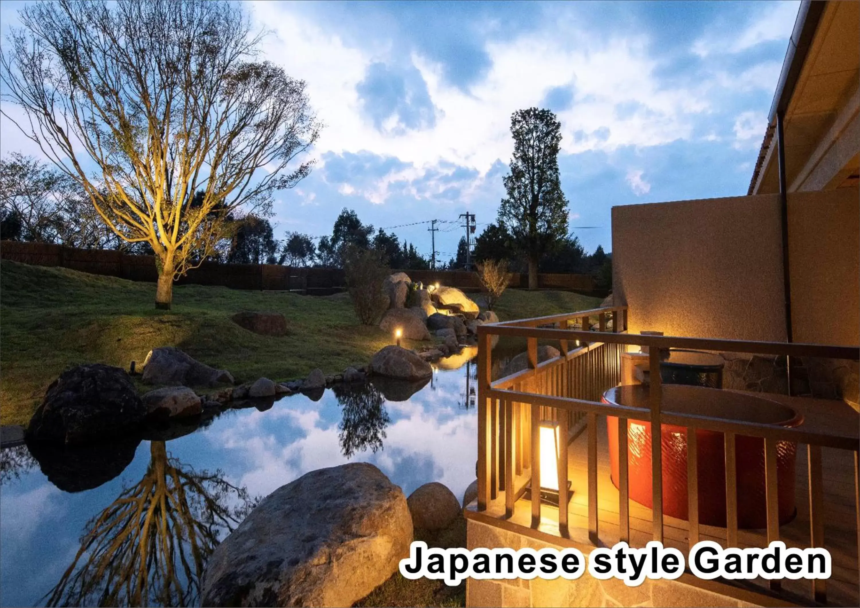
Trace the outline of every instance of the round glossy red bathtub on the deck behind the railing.
<path fill-rule="evenodd" d="M 729 390 L 699 386 L 664 384 L 663 411 L 678 414 L 707 415 L 736 421 L 796 427 L 802 415 L 781 403 L 735 393 Z M 637 408 L 648 408 L 648 386 L 635 384 L 607 390 L 603 401 Z M 628 421 L 628 466 L 630 498 L 651 507 L 651 425 Z M 609 437 L 611 478 L 618 487 L 618 419 L 606 417 Z M 663 513 L 687 519 L 687 440 L 686 428 L 662 425 Z M 704 525 L 726 525 L 726 465 L 722 433 L 697 430 L 697 472 L 699 522 Z M 734 442 L 738 488 L 738 527 L 764 528 L 767 525 L 765 505 L 765 442 L 754 437 L 737 436 Z M 797 444 L 777 442 L 777 492 L 779 523 L 794 519 L 795 462 Z"/>

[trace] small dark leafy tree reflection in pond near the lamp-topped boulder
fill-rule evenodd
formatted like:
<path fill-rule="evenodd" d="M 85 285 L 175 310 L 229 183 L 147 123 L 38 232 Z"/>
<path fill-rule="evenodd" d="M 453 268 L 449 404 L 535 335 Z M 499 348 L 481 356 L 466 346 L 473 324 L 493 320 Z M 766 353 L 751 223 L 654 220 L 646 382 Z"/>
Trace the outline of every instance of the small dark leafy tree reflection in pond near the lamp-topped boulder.
<path fill-rule="evenodd" d="M 343 408 L 338 425 L 343 455 L 352 458 L 356 451 L 370 448 L 375 452 L 380 449 L 385 439 L 385 427 L 391 420 L 379 390 L 369 382 L 335 384 L 333 390 Z"/>

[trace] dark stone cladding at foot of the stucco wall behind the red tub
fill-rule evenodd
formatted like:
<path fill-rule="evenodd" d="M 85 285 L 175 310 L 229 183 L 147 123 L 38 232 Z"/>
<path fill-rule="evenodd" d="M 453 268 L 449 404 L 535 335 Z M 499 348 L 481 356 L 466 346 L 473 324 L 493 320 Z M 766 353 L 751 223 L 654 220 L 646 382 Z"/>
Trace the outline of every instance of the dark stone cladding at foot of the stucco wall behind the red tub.
<path fill-rule="evenodd" d="M 726 366 L 722 387 L 788 394 L 786 358 L 746 353 L 722 353 Z M 841 399 L 858 408 L 857 361 L 799 357 L 791 359 L 791 394 Z"/>

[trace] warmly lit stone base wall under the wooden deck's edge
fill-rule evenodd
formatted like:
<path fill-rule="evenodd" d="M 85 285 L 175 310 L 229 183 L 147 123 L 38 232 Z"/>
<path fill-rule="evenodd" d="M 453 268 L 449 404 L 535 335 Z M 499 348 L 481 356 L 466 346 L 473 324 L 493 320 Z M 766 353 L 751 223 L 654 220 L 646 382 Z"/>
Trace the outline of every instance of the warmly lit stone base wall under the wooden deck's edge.
<path fill-rule="evenodd" d="M 562 549 L 469 520 L 467 547 L 494 549 L 530 547 Z M 583 551 L 587 556 L 587 551 Z M 577 580 L 535 578 L 532 580 L 466 580 L 467 606 L 754 606 L 738 599 L 692 587 L 677 580 L 646 579 L 639 587 L 627 587 L 623 580 L 597 580 L 587 572 Z"/>

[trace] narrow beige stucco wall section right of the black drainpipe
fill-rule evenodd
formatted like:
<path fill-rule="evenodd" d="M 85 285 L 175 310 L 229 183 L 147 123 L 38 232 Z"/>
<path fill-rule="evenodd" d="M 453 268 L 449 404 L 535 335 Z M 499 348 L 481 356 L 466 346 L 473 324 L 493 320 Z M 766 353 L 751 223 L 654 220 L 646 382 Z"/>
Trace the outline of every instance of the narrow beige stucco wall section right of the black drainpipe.
<path fill-rule="evenodd" d="M 860 344 L 860 193 L 789 194 L 791 320 L 796 342 Z"/>

